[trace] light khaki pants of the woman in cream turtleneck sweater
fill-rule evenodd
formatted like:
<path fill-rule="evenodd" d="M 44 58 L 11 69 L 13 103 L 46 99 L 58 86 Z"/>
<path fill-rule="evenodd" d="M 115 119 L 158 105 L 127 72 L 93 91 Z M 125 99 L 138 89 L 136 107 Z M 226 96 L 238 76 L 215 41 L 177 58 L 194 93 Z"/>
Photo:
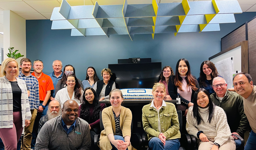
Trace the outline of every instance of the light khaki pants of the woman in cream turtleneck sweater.
<path fill-rule="evenodd" d="M 214 138 L 208 138 L 209 142 L 202 142 L 200 139 L 198 141 L 198 150 L 211 150 L 214 145 Z M 223 145 L 219 147 L 219 150 L 236 150 L 236 143 L 232 136 L 229 137 Z"/>

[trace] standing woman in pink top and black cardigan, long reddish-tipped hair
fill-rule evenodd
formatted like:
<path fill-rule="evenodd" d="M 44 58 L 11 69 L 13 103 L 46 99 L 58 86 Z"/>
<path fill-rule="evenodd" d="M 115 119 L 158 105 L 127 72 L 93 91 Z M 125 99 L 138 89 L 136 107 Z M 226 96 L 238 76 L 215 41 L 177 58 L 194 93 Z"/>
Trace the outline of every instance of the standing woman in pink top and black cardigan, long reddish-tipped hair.
<path fill-rule="evenodd" d="M 186 133 L 187 109 L 193 106 L 193 98 L 199 84 L 195 76 L 192 76 L 190 65 L 187 59 L 179 59 L 176 65 L 175 75 L 170 77 L 168 92 L 173 100 L 180 98 L 181 104 L 177 105 L 177 110 L 182 111 L 182 133 Z M 178 95 L 179 94 L 179 95 Z"/>

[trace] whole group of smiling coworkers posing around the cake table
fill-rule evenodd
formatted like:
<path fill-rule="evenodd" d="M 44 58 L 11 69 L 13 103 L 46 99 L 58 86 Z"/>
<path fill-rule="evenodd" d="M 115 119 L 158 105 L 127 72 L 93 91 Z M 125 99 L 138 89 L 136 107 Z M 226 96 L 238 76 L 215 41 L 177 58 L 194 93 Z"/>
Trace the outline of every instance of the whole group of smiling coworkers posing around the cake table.
<path fill-rule="evenodd" d="M 43 62 L 28 58 L 5 59 L 0 78 L 1 107 L 0 146 L 20 149 L 135 149 L 131 145 L 132 112 L 122 106 L 123 94 L 111 81 L 111 70 L 101 71 L 99 80 L 93 67 L 88 67 L 86 80 L 76 77 L 72 65 L 62 71 L 55 60 L 53 72 L 42 72 Z M 170 80 L 170 82 L 169 82 Z M 178 150 L 180 147 L 177 110 L 182 111 L 182 133 L 198 138 L 198 149 L 231 149 L 241 145 L 236 135 L 251 132 L 246 150 L 256 146 L 256 86 L 247 73 L 233 77 L 234 89 L 227 89 L 210 61 L 200 66 L 200 77 L 191 74 L 189 62 L 180 59 L 175 72 L 165 66 L 159 83 L 152 88 L 154 99 L 143 106 L 142 123 L 153 150 Z M 164 100 L 180 98 L 181 104 Z M 110 106 L 99 101 L 110 99 Z M 100 112 L 104 130 L 100 128 Z M 100 134 L 98 146 L 94 135 Z M 17 144 L 18 143 L 18 144 Z M 0 147 L 1 149 L 1 147 Z"/>

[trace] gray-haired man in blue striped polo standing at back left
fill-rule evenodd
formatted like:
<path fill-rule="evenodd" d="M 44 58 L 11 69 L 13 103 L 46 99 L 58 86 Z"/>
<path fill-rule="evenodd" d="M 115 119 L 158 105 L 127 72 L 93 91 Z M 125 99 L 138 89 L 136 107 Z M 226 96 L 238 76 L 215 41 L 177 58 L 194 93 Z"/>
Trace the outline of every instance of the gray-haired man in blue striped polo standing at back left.
<path fill-rule="evenodd" d="M 55 89 L 58 81 L 62 78 L 63 72 L 61 71 L 62 69 L 62 62 L 60 60 L 54 60 L 52 62 L 52 68 L 53 72 L 47 74 L 48 76 L 51 77 L 53 85 L 54 85 L 54 90 L 51 91 L 51 97 L 50 100 L 55 100 Z"/>

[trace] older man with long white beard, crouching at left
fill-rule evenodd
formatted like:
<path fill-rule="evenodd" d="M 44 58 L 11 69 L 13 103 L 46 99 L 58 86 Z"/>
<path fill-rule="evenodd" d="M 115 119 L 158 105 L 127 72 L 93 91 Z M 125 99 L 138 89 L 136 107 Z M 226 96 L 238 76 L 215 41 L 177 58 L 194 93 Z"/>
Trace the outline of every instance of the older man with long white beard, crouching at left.
<path fill-rule="evenodd" d="M 38 133 L 41 130 L 42 126 L 46 123 L 46 121 L 61 115 L 60 109 L 61 109 L 61 105 L 58 101 L 56 100 L 50 101 L 46 115 L 41 117 L 39 121 Z"/>

